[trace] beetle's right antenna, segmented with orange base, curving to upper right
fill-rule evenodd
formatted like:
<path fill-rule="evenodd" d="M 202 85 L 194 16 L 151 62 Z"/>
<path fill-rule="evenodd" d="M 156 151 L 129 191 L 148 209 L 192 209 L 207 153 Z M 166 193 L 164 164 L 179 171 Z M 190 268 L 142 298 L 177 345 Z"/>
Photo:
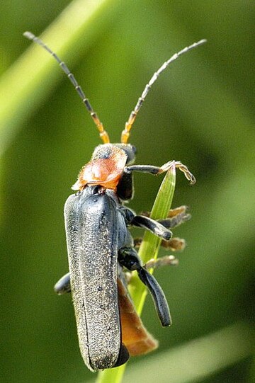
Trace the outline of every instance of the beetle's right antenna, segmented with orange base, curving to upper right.
<path fill-rule="evenodd" d="M 162 64 L 162 66 L 157 70 L 157 72 L 154 73 L 154 75 L 152 76 L 152 79 L 150 79 L 148 84 L 145 86 L 145 90 L 142 92 L 142 96 L 138 99 L 137 104 L 135 105 L 135 109 L 132 110 L 130 117 L 128 118 L 128 121 L 125 123 L 125 129 L 121 133 L 121 142 L 123 144 L 127 144 L 128 139 L 130 137 L 130 130 L 132 128 L 132 125 L 135 122 L 135 118 L 137 116 L 137 113 L 139 112 L 139 110 L 142 106 L 142 103 L 145 101 L 145 97 L 149 93 L 149 89 L 152 87 L 154 82 L 159 77 L 159 74 L 161 74 L 169 66 L 169 64 L 171 64 L 171 62 L 175 61 L 176 59 L 178 59 L 179 56 L 183 55 L 183 53 L 186 53 L 189 50 L 192 50 L 193 48 L 196 48 L 199 45 L 204 44 L 205 42 L 206 42 L 206 40 L 203 39 L 203 40 L 200 40 L 198 42 L 194 42 L 192 45 L 189 45 L 186 48 L 183 48 L 183 50 L 180 50 L 180 52 L 175 53 L 175 55 L 173 55 L 169 60 L 164 62 L 164 64 Z"/>

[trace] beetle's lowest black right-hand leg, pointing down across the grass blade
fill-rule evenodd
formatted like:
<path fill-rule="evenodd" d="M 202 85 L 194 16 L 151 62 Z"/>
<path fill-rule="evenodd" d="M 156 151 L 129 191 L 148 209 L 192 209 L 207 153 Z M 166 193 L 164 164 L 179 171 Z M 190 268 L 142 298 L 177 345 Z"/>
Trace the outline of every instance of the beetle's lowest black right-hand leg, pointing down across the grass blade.
<path fill-rule="evenodd" d="M 148 287 L 148 290 L 152 295 L 162 326 L 170 326 L 171 315 L 164 292 L 154 276 L 142 267 L 135 249 L 130 247 L 120 248 L 118 261 L 120 262 L 120 265 L 125 266 L 128 270 L 137 270 L 140 280 Z"/>

